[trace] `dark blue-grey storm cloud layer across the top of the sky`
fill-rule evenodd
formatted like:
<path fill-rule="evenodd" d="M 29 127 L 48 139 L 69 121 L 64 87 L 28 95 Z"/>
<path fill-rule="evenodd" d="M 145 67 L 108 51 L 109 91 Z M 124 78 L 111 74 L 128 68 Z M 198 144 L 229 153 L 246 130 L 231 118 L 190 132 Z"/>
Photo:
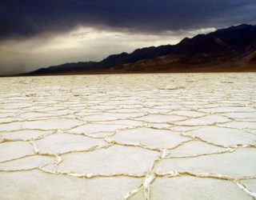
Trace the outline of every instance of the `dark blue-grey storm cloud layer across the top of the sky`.
<path fill-rule="evenodd" d="M 1 0 L 0 38 L 75 26 L 154 32 L 254 23 L 256 0 Z"/>

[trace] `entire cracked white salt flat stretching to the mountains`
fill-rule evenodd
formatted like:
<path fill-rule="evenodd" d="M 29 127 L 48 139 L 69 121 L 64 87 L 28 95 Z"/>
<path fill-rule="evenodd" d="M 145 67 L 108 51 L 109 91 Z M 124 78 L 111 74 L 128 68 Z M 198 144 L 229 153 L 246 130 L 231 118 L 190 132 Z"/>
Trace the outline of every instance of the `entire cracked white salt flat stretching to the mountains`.
<path fill-rule="evenodd" d="M 1 199 L 256 199 L 256 74 L 0 78 Z"/>

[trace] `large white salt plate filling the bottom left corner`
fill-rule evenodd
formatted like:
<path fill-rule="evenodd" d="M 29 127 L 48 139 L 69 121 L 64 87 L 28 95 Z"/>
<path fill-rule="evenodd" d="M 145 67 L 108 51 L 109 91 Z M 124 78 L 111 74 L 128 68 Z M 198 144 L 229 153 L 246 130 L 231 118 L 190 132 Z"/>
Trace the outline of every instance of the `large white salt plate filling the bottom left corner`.
<path fill-rule="evenodd" d="M 92 178 L 52 175 L 38 170 L 0 173 L 1 199 L 122 199 L 140 178 Z M 72 183 L 72 184 L 70 184 Z"/>

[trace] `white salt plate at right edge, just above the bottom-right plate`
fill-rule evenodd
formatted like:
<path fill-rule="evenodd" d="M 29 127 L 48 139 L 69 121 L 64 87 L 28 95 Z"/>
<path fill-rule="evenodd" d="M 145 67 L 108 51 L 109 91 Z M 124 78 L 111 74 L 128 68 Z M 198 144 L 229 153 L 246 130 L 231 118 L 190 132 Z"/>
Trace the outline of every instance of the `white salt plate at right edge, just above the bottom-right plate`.
<path fill-rule="evenodd" d="M 228 151 L 223 154 L 210 154 L 196 158 L 166 158 L 158 164 L 157 172 L 181 170 L 201 173 L 207 171 L 237 178 L 255 177 L 255 156 L 255 148 L 246 148 L 235 150 L 232 153 Z"/>

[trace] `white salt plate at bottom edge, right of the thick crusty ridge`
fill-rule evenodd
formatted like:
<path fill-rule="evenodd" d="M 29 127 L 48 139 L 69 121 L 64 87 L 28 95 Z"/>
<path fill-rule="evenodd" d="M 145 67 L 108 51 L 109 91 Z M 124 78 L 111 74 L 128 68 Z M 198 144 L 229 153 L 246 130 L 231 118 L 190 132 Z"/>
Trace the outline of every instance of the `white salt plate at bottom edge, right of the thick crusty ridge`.
<path fill-rule="evenodd" d="M 182 194 L 182 197 L 181 195 Z M 237 190 L 234 183 L 212 178 L 182 176 L 156 178 L 152 184 L 152 199 L 210 199 L 239 200 L 251 198 Z"/>

